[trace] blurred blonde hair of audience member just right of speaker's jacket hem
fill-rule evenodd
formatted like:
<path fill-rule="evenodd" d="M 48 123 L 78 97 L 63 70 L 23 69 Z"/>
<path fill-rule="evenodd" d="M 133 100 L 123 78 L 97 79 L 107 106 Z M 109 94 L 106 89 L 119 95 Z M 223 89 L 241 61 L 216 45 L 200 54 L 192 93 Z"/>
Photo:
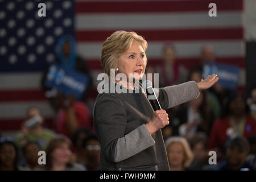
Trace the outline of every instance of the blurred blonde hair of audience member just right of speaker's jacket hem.
<path fill-rule="evenodd" d="M 166 139 L 166 149 L 168 150 L 168 147 L 170 147 L 174 143 L 180 143 L 181 146 L 183 147 L 185 155 L 183 167 L 188 168 L 193 160 L 193 153 L 191 151 L 191 148 L 189 147 L 187 140 L 183 137 L 170 137 Z"/>

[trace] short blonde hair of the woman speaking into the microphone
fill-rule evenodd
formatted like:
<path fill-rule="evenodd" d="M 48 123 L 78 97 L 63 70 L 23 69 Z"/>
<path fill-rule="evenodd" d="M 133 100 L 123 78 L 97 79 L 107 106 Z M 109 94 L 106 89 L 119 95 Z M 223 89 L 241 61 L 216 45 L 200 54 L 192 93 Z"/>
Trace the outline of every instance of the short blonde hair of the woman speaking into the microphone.
<path fill-rule="evenodd" d="M 104 68 L 104 72 L 109 77 L 110 69 L 117 68 L 119 57 L 130 49 L 133 41 L 141 43 L 142 48 L 146 51 L 146 40 L 136 32 L 127 32 L 123 30 L 115 31 L 102 44 L 101 65 Z"/>

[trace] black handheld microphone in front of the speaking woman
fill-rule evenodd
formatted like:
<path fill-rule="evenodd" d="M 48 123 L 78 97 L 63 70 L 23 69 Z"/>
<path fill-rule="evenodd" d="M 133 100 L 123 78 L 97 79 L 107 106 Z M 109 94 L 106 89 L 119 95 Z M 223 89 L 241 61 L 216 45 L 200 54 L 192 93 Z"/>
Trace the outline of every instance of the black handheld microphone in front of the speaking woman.
<path fill-rule="evenodd" d="M 146 80 L 142 84 L 142 88 L 146 90 L 148 100 L 150 101 L 151 106 L 153 107 L 154 111 L 162 109 L 159 104 L 158 98 L 156 97 L 155 91 L 152 88 L 152 82 Z"/>

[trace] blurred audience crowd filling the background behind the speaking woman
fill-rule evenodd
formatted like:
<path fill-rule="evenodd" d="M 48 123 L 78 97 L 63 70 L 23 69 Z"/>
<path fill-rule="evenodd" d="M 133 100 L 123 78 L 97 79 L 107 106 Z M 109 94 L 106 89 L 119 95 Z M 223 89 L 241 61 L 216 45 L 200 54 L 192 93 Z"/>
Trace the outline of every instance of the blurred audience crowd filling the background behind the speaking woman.
<path fill-rule="evenodd" d="M 68 57 L 71 45 L 64 42 L 61 50 Z M 148 60 L 146 73 L 159 73 L 159 87 L 199 82 L 204 64 L 214 61 L 214 49 L 205 46 L 199 64 L 188 69 L 176 60 L 175 47 L 166 45 L 161 63 L 153 67 Z M 75 69 L 90 75 L 86 61 L 79 56 Z M 92 85 L 90 80 L 88 90 Z M 42 87 L 45 92 L 50 90 L 43 81 Z M 53 129 L 45 125 L 38 107 L 28 108 L 27 119 L 15 137 L 0 138 L 0 170 L 99 170 L 101 146 L 86 103 L 88 90 L 81 100 L 60 92 L 49 97 L 56 113 Z M 217 83 L 201 90 L 196 100 L 167 113 L 170 125 L 162 132 L 171 170 L 255 169 L 256 86 L 251 88 L 250 96 L 245 96 L 238 89 L 226 90 Z M 46 165 L 38 163 L 42 150 L 46 151 Z M 209 151 L 216 151 L 217 164 L 209 164 Z"/>

